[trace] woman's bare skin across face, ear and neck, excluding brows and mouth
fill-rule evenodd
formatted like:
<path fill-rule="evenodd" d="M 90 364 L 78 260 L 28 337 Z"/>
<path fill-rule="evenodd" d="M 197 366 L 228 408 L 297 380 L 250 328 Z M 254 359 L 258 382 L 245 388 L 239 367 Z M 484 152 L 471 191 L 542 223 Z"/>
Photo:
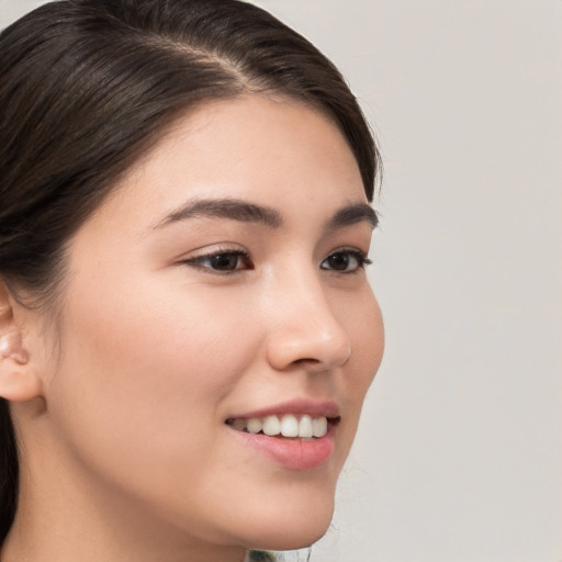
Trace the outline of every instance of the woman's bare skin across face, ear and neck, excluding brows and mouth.
<path fill-rule="evenodd" d="M 166 218 L 201 199 L 282 224 Z M 360 203 L 352 153 L 316 111 L 248 95 L 181 117 L 70 240 L 56 330 L 4 295 L 0 391 L 25 447 L 2 560 L 240 562 L 318 539 L 383 350 L 350 254 L 367 255 L 372 226 L 326 229 Z M 202 258 L 216 251 L 234 271 Z M 346 271 L 325 267 L 334 252 Z M 293 398 L 339 407 L 334 453 L 312 470 L 225 424 Z"/>

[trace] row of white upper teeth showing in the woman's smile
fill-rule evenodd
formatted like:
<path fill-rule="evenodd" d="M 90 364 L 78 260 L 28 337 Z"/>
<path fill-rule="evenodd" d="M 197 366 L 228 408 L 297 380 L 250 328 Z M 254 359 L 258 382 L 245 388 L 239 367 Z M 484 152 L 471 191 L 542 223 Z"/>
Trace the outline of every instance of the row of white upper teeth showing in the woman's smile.
<path fill-rule="evenodd" d="M 299 417 L 294 414 L 279 416 L 250 417 L 248 419 L 229 420 L 235 429 L 267 436 L 282 435 L 283 437 L 324 437 L 328 430 L 328 420 L 325 417 L 315 417 L 305 414 Z"/>

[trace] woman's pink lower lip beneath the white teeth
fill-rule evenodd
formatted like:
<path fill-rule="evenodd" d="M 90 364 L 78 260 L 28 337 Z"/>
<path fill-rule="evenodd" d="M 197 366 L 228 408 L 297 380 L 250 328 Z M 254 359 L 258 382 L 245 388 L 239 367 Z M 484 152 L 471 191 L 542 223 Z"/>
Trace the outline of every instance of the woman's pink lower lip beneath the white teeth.
<path fill-rule="evenodd" d="M 328 425 L 328 431 L 324 437 L 312 441 L 268 437 L 263 434 L 247 434 L 236 429 L 233 431 L 249 447 L 289 470 L 316 469 L 324 464 L 334 452 L 334 426 L 331 425 Z"/>

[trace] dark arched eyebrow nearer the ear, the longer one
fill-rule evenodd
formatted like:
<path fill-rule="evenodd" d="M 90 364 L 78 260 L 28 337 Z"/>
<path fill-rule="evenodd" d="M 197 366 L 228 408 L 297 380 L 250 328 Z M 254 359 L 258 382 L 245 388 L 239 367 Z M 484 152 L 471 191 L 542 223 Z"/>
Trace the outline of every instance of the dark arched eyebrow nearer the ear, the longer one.
<path fill-rule="evenodd" d="M 180 209 L 172 211 L 156 225 L 156 228 L 187 218 L 198 217 L 217 217 L 245 223 L 261 223 L 271 228 L 279 228 L 283 224 L 281 214 L 274 209 L 237 199 L 200 199 L 190 201 Z"/>

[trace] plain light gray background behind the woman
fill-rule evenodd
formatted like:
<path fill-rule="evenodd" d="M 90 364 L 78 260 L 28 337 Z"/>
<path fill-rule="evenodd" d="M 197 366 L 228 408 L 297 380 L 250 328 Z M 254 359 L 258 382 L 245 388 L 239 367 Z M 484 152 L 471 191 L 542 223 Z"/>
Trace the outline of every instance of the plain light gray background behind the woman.
<path fill-rule="evenodd" d="M 562 2 L 257 3 L 344 70 L 385 160 L 386 355 L 312 561 L 562 562 Z"/>

